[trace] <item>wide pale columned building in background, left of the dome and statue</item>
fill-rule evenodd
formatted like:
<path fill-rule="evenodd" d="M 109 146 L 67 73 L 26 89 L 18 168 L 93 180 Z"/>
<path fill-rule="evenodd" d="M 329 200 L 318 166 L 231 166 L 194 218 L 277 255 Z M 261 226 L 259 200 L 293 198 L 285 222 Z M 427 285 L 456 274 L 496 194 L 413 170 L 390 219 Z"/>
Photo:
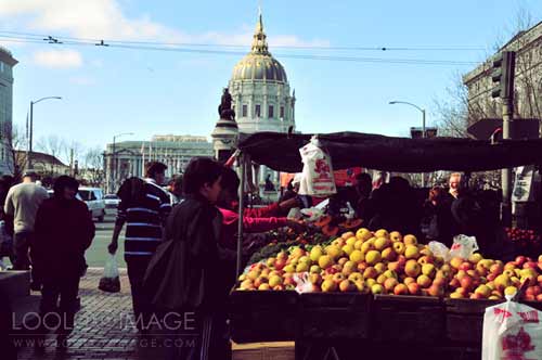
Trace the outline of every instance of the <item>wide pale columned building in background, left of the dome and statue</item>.
<path fill-rule="evenodd" d="M 192 157 L 197 156 L 214 156 L 212 144 L 205 137 L 166 134 L 154 136 L 151 141 L 107 144 L 104 153 L 105 189 L 115 193 L 125 179 L 143 177 L 149 162 L 166 164 L 167 177 L 182 173 Z"/>

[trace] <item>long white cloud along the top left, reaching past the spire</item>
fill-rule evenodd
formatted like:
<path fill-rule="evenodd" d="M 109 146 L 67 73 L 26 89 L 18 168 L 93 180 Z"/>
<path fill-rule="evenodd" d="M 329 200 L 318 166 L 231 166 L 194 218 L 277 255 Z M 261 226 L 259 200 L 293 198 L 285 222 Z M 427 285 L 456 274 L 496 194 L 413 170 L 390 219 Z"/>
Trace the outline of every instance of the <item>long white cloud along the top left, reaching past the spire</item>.
<path fill-rule="evenodd" d="M 154 40 L 181 43 L 217 43 L 249 47 L 254 26 L 243 26 L 236 34 L 209 31 L 186 34 L 152 21 L 149 16 L 130 18 L 122 12 L 119 0 L 3 0 L 0 18 L 24 17 L 33 30 L 52 35 L 106 40 Z M 256 18 L 255 18 L 256 22 Z M 55 31 L 55 33 L 53 33 Z M 328 46 L 328 41 L 305 41 L 294 35 L 276 35 L 273 46 Z"/>

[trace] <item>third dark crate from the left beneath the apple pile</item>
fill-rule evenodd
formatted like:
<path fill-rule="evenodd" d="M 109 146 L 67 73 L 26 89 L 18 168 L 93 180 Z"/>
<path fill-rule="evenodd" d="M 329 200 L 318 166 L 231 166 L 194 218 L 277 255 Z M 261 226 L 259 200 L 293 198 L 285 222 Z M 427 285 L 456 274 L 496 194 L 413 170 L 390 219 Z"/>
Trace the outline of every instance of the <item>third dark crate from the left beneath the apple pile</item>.
<path fill-rule="evenodd" d="M 438 297 L 375 295 L 371 313 L 375 340 L 435 343 L 444 337 L 444 306 Z"/>

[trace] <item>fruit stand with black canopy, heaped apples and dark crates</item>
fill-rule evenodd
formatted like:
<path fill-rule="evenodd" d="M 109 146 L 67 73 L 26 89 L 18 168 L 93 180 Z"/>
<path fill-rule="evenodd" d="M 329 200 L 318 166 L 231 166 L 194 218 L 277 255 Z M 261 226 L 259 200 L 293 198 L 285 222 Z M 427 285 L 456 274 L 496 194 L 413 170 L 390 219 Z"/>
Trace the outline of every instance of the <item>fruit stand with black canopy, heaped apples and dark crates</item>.
<path fill-rule="evenodd" d="M 250 136 L 240 143 L 240 163 L 300 171 L 298 149 L 310 138 Z M 490 144 L 352 132 L 320 140 L 334 169 L 482 171 L 542 164 L 540 140 Z M 488 306 L 528 286 L 522 300 L 542 308 L 542 303 L 531 303 L 542 300 L 542 259 L 518 257 L 503 263 L 475 253 L 444 260 L 415 236 L 392 230 L 373 233 L 360 226 L 322 244 L 309 241 L 269 254 L 244 273 L 238 266 L 231 293 L 233 340 L 295 340 L 296 359 L 479 359 Z M 293 288 L 300 283 L 308 291 L 298 294 Z"/>

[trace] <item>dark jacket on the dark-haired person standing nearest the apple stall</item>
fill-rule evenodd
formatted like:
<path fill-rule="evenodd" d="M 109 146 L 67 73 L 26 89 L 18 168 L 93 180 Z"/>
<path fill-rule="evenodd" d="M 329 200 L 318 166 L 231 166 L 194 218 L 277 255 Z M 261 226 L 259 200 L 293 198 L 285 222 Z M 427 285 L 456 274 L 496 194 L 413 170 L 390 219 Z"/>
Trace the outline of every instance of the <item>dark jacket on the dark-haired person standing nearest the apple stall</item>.
<path fill-rule="evenodd" d="M 222 217 L 202 196 L 186 196 L 166 221 L 164 242 L 145 273 L 159 309 L 209 309 L 221 295 L 218 242 Z M 222 297 L 223 298 L 223 297 Z"/>

